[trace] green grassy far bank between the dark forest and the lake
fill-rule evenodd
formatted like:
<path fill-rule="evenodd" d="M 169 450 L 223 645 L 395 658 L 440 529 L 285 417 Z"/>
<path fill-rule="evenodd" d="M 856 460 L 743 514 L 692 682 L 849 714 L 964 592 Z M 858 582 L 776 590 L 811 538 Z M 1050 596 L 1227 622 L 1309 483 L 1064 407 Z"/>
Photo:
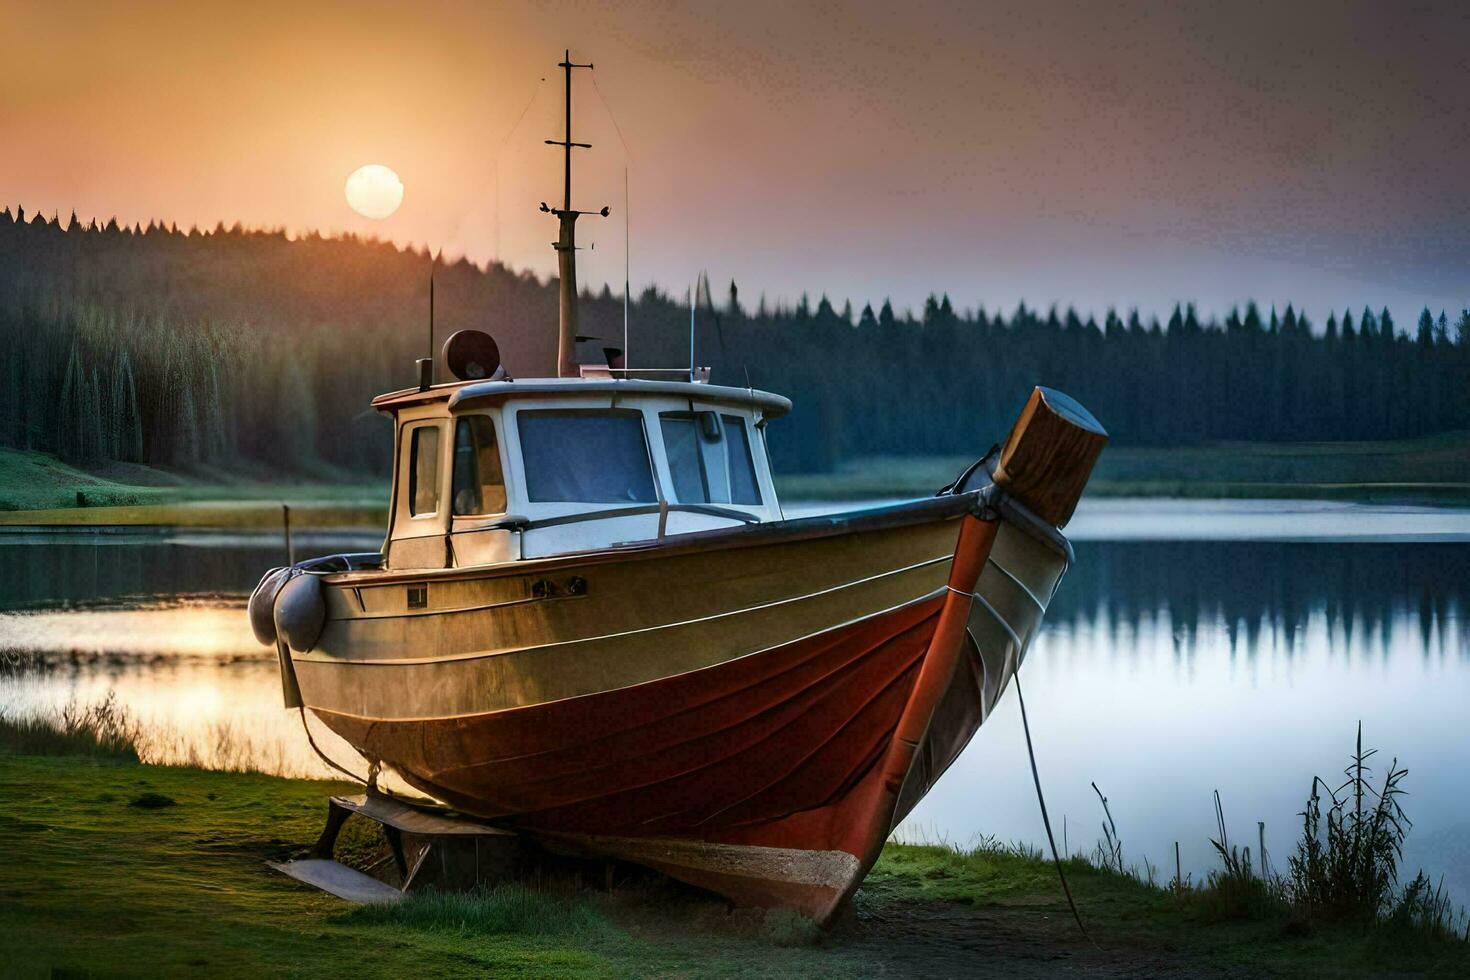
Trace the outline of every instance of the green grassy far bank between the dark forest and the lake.
<path fill-rule="evenodd" d="M 923 497 L 970 457 L 867 457 L 781 476 L 782 498 Z M 1470 433 L 1398 442 L 1222 442 L 1110 447 L 1089 497 L 1310 498 L 1470 505 Z M 313 527 L 381 526 L 388 486 L 323 470 L 304 479 L 113 463 L 79 467 L 0 448 L 0 525 L 278 527 L 281 504 Z"/>

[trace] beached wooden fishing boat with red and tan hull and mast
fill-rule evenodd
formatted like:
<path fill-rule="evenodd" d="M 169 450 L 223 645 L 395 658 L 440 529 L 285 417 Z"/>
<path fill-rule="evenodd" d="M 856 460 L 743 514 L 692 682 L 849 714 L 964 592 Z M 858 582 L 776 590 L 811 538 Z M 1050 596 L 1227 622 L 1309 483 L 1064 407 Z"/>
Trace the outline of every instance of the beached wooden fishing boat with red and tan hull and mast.
<path fill-rule="evenodd" d="M 1035 388 L 933 497 L 785 517 L 785 397 L 578 363 L 562 68 L 557 376 L 512 378 L 473 331 L 444 345 L 451 381 L 420 360 L 373 401 L 381 551 L 270 570 L 251 621 L 287 707 L 373 779 L 828 923 L 1016 676 L 1107 433 Z"/>

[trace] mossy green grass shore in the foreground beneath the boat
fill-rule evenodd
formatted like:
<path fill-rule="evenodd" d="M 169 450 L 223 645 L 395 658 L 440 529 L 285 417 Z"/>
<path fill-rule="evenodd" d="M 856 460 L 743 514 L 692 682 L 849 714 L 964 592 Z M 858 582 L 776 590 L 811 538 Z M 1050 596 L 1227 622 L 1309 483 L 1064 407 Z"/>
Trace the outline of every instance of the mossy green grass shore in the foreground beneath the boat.
<path fill-rule="evenodd" d="M 272 870 L 347 785 L 0 751 L 0 974 L 1466 976 L 1470 946 L 1232 918 L 1082 860 L 889 845 L 826 933 L 662 879 L 354 908 Z M 600 876 L 598 876 L 600 877 Z"/>

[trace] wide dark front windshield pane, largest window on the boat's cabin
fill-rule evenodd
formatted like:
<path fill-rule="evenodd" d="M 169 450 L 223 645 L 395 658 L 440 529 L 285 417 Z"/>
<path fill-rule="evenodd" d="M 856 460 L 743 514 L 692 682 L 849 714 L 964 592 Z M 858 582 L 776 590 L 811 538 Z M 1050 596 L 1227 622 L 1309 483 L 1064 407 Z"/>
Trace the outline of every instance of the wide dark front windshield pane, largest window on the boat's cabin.
<path fill-rule="evenodd" d="M 542 408 L 516 413 L 526 497 L 532 502 L 653 504 L 642 413 Z"/>

